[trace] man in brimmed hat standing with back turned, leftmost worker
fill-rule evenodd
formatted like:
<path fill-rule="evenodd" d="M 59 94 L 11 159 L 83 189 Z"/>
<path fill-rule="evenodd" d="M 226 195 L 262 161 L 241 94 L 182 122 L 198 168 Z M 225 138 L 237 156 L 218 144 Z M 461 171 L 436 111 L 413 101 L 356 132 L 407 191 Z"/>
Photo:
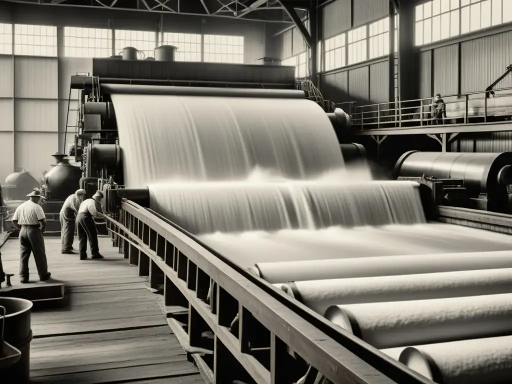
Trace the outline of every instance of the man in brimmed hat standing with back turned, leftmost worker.
<path fill-rule="evenodd" d="M 48 272 L 45 240 L 42 237 L 46 228 L 46 216 L 39 203 L 43 197 L 38 188 L 34 188 L 27 196 L 30 200 L 19 205 L 12 217 L 14 228 L 19 229 L 19 280 L 22 283 L 29 282 L 29 259 L 33 253 L 39 280 L 47 281 L 51 273 Z"/>

